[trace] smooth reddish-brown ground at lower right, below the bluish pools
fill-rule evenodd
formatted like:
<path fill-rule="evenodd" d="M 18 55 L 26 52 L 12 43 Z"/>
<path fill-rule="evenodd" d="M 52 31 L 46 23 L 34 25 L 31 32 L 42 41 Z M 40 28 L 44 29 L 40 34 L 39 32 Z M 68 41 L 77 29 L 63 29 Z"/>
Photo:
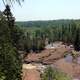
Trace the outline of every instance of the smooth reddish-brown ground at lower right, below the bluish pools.
<path fill-rule="evenodd" d="M 79 78 L 80 77 L 80 65 L 76 63 L 66 62 L 65 59 L 60 59 L 54 63 L 56 68 L 67 73 L 68 75 Z"/>

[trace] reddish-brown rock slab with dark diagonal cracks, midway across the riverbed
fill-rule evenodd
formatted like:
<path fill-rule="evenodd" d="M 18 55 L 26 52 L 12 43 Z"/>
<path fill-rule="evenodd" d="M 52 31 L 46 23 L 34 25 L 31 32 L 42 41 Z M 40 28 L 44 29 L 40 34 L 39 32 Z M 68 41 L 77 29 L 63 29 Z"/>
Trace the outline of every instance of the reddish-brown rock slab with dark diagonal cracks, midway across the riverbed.
<path fill-rule="evenodd" d="M 38 54 L 30 53 L 27 57 L 25 57 L 24 61 L 37 62 L 37 63 L 43 63 L 43 64 L 52 64 L 55 62 L 55 60 L 63 58 L 65 52 L 67 51 L 68 51 L 68 48 L 62 45 L 59 48 L 46 49 Z"/>

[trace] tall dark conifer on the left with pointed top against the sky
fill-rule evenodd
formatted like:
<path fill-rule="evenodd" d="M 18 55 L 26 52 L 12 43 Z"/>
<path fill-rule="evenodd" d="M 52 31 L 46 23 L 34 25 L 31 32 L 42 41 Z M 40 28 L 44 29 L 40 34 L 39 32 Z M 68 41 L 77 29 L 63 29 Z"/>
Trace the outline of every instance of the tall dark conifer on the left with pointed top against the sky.
<path fill-rule="evenodd" d="M 3 80 L 21 80 L 22 64 L 20 55 L 13 43 L 14 23 L 11 19 L 12 14 L 8 6 L 0 18 L 0 78 L 4 78 Z"/>

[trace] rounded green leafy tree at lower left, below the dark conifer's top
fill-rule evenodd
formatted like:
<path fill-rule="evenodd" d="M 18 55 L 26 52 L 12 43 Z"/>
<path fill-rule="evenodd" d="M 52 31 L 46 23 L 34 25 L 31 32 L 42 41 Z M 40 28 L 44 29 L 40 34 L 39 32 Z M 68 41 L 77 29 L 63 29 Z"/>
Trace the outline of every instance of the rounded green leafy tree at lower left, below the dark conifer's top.
<path fill-rule="evenodd" d="M 21 80 L 22 65 L 17 50 L 9 42 L 0 47 L 0 73 L 4 74 L 4 80 Z"/>

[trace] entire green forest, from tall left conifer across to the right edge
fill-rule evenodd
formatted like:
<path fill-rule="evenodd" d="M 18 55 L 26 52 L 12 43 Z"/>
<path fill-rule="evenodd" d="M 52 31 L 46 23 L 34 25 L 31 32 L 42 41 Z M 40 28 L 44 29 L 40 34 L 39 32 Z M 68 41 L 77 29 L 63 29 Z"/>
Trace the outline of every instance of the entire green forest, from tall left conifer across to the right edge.
<path fill-rule="evenodd" d="M 75 51 L 80 51 L 80 20 L 16 22 L 6 5 L 0 12 L 0 80 L 22 80 L 23 63 L 19 51 L 39 54 L 47 44 L 56 41 L 73 45 Z M 51 68 L 45 71 L 43 80 L 52 80 L 54 71 Z M 62 76 L 58 71 L 56 74 Z"/>

